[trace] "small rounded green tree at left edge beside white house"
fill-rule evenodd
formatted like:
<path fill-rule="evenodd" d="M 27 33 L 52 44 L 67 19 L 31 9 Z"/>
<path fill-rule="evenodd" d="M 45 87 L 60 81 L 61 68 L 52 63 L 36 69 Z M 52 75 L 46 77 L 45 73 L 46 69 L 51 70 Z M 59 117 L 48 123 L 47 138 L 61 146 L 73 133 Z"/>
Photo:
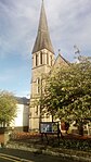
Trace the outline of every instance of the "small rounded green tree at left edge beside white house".
<path fill-rule="evenodd" d="M 0 91 L 0 124 L 8 126 L 16 115 L 16 100 L 13 94 Z"/>

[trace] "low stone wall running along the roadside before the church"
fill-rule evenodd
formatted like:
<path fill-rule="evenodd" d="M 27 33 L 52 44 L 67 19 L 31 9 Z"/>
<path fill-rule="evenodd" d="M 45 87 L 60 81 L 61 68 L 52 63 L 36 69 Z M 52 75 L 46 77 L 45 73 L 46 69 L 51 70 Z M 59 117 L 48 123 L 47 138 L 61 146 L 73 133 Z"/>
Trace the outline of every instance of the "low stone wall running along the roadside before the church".
<path fill-rule="evenodd" d="M 73 162 L 91 162 L 91 155 L 88 152 L 81 152 L 83 155 L 80 155 L 79 151 L 74 150 L 63 150 L 60 148 L 51 148 L 51 147 L 41 147 L 41 146 L 27 146 L 23 142 L 10 142 L 8 148 L 20 149 L 25 151 L 34 152 L 35 154 L 50 154 L 57 155 L 63 158 L 64 160 L 73 160 Z"/>

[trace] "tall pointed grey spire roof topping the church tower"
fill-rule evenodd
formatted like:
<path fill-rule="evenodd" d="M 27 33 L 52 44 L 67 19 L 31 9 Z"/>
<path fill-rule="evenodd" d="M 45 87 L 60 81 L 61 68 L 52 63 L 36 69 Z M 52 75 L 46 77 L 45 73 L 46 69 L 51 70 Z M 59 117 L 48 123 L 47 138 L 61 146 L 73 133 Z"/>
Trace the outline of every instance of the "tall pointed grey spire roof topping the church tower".
<path fill-rule="evenodd" d="M 53 47 L 51 43 L 51 39 L 50 39 L 43 1 L 42 1 L 42 5 L 41 5 L 39 27 L 38 27 L 35 46 L 32 49 L 32 53 L 35 53 L 39 50 L 42 50 L 42 49 L 48 49 L 49 51 L 54 53 L 54 50 L 53 50 Z"/>

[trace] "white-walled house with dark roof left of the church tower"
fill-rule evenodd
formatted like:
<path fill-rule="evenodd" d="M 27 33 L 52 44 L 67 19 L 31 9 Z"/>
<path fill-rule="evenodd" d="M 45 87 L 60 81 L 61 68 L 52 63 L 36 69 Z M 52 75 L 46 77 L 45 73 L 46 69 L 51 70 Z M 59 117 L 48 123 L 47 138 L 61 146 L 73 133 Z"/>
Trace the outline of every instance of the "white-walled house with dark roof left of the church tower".
<path fill-rule="evenodd" d="M 29 127 L 29 99 L 16 97 L 17 111 L 16 117 L 10 124 L 13 130 L 28 132 Z"/>

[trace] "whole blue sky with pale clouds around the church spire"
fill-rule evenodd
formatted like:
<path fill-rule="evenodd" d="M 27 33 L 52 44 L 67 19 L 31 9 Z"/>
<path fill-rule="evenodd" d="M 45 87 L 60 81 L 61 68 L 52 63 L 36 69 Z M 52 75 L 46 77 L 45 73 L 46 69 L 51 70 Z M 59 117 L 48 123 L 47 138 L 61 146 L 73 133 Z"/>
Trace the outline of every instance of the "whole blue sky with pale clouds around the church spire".
<path fill-rule="evenodd" d="M 0 90 L 29 97 L 31 50 L 41 0 L 0 0 Z M 44 0 L 55 57 L 75 61 L 76 46 L 91 57 L 91 0 Z"/>

